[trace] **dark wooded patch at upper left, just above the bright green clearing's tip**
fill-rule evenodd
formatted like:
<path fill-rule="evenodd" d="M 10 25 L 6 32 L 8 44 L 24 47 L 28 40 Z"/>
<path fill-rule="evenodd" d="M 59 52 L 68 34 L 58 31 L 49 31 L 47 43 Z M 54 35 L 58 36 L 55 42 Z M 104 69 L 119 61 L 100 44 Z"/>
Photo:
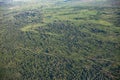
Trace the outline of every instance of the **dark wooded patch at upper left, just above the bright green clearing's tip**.
<path fill-rule="evenodd" d="M 29 10 L 29 11 L 23 11 L 19 14 L 15 15 L 15 24 L 16 25 L 25 25 L 29 23 L 38 23 L 42 21 L 41 12 L 37 10 Z M 19 21 L 19 22 L 18 22 Z"/>

